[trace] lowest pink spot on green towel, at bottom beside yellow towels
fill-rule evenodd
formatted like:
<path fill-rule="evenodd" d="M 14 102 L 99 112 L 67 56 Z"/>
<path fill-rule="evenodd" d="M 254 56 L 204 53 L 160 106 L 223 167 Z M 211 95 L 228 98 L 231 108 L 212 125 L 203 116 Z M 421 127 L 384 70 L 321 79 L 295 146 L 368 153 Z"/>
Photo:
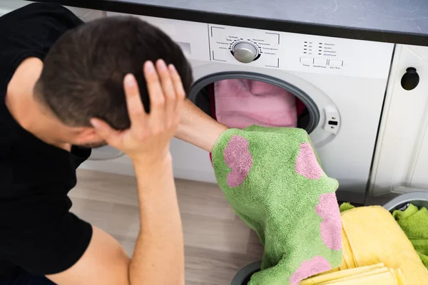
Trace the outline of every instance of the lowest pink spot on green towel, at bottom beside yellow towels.
<path fill-rule="evenodd" d="M 331 269 L 330 263 L 324 257 L 317 256 L 310 260 L 305 260 L 290 277 L 291 285 L 299 285 L 303 279 L 325 272 Z"/>

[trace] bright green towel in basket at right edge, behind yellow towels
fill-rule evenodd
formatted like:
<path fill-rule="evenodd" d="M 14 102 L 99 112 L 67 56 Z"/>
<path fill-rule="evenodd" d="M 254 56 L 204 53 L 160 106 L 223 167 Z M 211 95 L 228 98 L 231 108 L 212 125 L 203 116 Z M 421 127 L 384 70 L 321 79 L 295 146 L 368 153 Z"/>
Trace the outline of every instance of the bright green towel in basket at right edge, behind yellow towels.
<path fill-rule="evenodd" d="M 428 269 L 428 209 L 424 207 L 418 209 L 410 204 L 404 211 L 397 209 L 392 215 Z"/>

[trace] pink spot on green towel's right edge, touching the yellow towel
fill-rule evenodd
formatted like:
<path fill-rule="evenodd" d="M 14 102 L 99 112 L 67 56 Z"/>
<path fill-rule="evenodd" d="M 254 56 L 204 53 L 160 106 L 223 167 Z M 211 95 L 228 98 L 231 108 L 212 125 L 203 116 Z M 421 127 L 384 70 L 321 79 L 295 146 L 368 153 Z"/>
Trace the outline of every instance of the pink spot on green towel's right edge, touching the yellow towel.
<path fill-rule="evenodd" d="M 315 212 L 322 217 L 320 226 L 322 242 L 329 249 L 342 249 L 342 220 L 335 193 L 320 196 Z"/>

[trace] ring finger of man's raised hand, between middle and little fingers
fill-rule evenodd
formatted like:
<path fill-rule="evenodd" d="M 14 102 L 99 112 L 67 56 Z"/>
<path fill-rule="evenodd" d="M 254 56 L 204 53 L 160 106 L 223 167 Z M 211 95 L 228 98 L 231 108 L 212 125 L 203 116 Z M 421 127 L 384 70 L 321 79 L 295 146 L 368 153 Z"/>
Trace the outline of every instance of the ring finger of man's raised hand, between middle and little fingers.
<path fill-rule="evenodd" d="M 177 102 L 173 80 L 165 61 L 162 59 L 156 62 L 156 69 L 161 77 L 163 94 L 165 95 L 165 118 L 168 118 L 167 120 L 170 122 L 170 118 L 173 118 L 174 116 L 175 104 Z"/>

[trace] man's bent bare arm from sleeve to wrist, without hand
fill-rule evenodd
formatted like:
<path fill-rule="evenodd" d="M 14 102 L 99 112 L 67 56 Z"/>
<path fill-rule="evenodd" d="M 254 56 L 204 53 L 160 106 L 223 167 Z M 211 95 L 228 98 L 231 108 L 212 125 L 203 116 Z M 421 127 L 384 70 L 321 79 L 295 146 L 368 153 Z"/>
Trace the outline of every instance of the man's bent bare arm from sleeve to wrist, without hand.
<path fill-rule="evenodd" d="M 171 160 L 136 165 L 136 177 L 141 230 L 132 259 L 116 239 L 93 227 L 83 257 L 49 279 L 59 285 L 184 284 L 183 234 Z"/>

